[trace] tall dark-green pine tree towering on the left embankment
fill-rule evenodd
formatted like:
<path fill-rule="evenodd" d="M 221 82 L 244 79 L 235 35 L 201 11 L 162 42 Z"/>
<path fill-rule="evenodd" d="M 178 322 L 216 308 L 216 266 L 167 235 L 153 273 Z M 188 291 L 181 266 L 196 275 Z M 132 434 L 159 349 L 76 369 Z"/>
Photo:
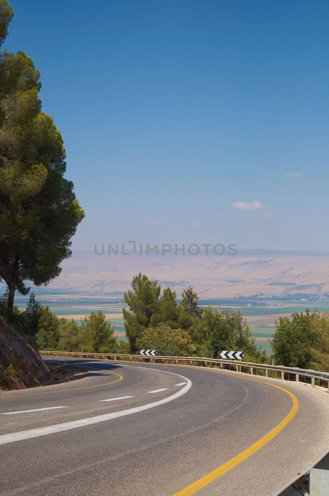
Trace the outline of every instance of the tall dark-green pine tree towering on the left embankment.
<path fill-rule="evenodd" d="M 0 0 L 0 43 L 13 13 Z M 0 279 L 8 318 L 25 281 L 48 283 L 71 255 L 84 213 L 64 179 L 65 149 L 53 119 L 41 111 L 39 71 L 24 52 L 0 54 Z"/>

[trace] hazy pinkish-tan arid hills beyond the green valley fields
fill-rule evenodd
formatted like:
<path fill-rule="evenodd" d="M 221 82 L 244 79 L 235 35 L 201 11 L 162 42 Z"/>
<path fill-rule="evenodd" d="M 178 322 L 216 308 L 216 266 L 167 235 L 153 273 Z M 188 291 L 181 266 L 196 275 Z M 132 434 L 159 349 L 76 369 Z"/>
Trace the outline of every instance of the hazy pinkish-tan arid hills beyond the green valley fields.
<path fill-rule="evenodd" d="M 127 291 L 142 272 L 177 295 L 192 285 L 201 298 L 263 293 L 329 293 L 329 256 L 322 255 L 96 255 L 74 253 L 49 288 L 86 292 Z"/>

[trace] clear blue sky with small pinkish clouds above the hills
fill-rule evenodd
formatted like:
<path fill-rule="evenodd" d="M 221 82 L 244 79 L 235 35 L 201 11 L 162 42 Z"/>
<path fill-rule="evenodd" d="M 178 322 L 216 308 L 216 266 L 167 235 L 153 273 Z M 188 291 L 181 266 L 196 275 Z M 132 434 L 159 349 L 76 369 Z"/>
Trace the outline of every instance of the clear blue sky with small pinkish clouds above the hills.
<path fill-rule="evenodd" d="M 12 0 L 95 243 L 328 248 L 327 1 Z"/>

